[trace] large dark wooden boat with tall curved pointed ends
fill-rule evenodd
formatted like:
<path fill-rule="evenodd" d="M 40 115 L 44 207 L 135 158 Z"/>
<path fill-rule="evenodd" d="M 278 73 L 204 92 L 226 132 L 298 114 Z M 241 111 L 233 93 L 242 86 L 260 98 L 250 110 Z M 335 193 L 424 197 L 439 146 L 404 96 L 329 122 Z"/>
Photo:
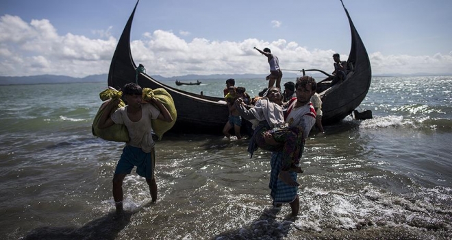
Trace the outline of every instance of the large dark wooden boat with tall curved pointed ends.
<path fill-rule="evenodd" d="M 229 115 L 223 98 L 181 91 L 154 80 L 146 73 L 139 73 L 136 80 L 136 64 L 130 51 L 130 31 L 138 2 L 139 0 L 129 16 L 129 20 L 114 51 L 108 74 L 108 86 L 118 89 L 129 82 L 137 82 L 142 87 L 164 88 L 173 97 L 177 108 L 177 121 L 171 132 L 222 134 L 223 126 Z M 344 7 L 343 4 L 342 6 Z M 371 84 L 371 66 L 366 49 L 345 7 L 344 10 L 349 18 L 352 36 L 352 46 L 348 61 L 353 62 L 355 71 L 349 73 L 347 79 L 341 84 L 336 84 L 333 88 L 328 88 L 321 93 L 323 99 L 323 123 L 325 125 L 336 123 L 350 115 L 360 105 Z M 307 69 L 305 71 L 316 71 L 316 69 Z"/>

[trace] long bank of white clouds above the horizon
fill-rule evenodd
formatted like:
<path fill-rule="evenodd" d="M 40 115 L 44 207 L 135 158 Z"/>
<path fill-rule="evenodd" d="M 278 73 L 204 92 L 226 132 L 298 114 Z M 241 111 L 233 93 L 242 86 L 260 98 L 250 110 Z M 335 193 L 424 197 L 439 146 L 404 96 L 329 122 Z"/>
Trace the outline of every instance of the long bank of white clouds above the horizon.
<path fill-rule="evenodd" d="M 96 31 L 97 32 L 97 31 Z M 110 27 L 87 38 L 74 34 L 58 35 L 49 21 L 26 23 L 18 16 L 0 18 L 0 75 L 58 74 L 84 77 L 108 73 L 117 39 Z M 184 34 L 181 34 L 181 36 Z M 135 62 L 142 63 L 151 75 L 167 77 L 186 74 L 268 72 L 266 58 L 253 47 L 269 47 L 279 57 L 282 69 L 333 70 L 331 49 L 308 49 L 296 42 L 278 39 L 266 42 L 256 38 L 218 41 L 205 38 L 184 40 L 172 31 L 145 32 L 131 43 Z M 450 73 L 452 54 L 434 56 L 388 55 L 370 53 L 373 74 Z M 341 56 L 346 60 L 347 56 Z"/>

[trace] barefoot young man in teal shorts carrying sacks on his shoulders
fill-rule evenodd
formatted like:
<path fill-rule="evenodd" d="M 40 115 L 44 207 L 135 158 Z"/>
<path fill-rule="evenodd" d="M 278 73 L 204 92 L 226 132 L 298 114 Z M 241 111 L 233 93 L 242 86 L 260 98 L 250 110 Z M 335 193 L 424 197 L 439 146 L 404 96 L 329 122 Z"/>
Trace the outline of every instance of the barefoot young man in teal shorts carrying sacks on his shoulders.
<path fill-rule="evenodd" d="M 114 106 L 118 106 L 119 99 L 111 100 L 99 119 L 98 128 L 105 129 L 111 125 L 123 124 L 129 132 L 129 142 L 125 143 L 123 153 L 119 159 L 113 176 L 113 198 L 116 212 L 123 211 L 123 180 L 136 166 L 136 173 L 146 178 L 152 202 L 157 201 L 157 184 L 155 183 L 155 148 L 152 139 L 151 119 L 171 122 L 168 109 L 155 97 L 146 103 L 142 100 L 142 88 L 135 83 L 125 84 L 123 97 L 127 105 L 118 108 L 109 117 Z M 152 104 L 151 104 L 152 103 Z M 155 106 L 153 106 L 155 104 Z"/>

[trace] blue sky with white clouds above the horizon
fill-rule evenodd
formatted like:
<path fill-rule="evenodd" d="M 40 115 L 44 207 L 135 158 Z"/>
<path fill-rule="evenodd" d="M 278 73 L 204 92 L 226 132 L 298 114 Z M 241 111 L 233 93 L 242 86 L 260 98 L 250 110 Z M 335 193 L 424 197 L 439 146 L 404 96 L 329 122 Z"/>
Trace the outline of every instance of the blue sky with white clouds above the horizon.
<path fill-rule="evenodd" d="M 452 73 L 451 0 L 343 0 L 373 75 Z M 108 73 L 136 0 L 0 0 L 0 76 Z M 351 34 L 340 0 L 140 0 L 134 61 L 149 75 L 331 72 Z"/>

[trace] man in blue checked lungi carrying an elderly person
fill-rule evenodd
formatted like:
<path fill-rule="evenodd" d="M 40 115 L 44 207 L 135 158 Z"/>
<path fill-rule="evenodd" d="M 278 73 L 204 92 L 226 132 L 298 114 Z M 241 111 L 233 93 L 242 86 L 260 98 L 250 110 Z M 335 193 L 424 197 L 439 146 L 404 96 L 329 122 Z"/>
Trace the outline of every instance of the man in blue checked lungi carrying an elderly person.
<path fill-rule="evenodd" d="M 289 101 L 288 110 L 284 116 L 289 127 L 300 126 L 303 128 L 303 143 L 301 146 L 301 156 L 305 145 L 305 140 L 309 135 L 312 126 L 316 123 L 314 106 L 311 97 L 316 93 L 316 80 L 310 76 L 303 76 L 297 79 L 295 84 L 297 98 Z M 267 135 L 269 143 L 272 141 L 271 135 Z M 275 143 L 276 144 L 276 143 Z M 300 156 L 300 157 L 301 157 Z M 300 200 L 298 196 L 297 172 L 282 170 L 283 152 L 273 152 L 271 154 L 271 173 L 268 187 L 271 189 L 273 206 L 280 207 L 282 204 L 290 204 L 292 215 L 299 213 Z M 287 184 L 286 182 L 294 182 Z"/>

